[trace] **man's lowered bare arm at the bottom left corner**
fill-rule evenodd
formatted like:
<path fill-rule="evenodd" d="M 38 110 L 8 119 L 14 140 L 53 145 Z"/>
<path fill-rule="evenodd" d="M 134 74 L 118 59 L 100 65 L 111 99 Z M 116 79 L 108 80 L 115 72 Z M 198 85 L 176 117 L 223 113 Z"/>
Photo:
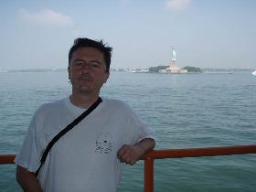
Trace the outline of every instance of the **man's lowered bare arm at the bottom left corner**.
<path fill-rule="evenodd" d="M 43 192 L 37 176 L 19 165 L 16 167 L 16 181 L 25 192 Z"/>

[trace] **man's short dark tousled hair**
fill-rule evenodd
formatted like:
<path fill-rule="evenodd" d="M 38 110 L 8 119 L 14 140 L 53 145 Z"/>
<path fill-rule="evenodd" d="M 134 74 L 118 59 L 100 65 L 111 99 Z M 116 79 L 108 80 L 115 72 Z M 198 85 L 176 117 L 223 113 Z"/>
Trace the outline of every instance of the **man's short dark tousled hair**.
<path fill-rule="evenodd" d="M 74 40 L 74 45 L 69 50 L 69 64 L 72 59 L 72 54 L 79 48 L 97 48 L 103 53 L 106 62 L 107 72 L 110 71 L 112 61 L 112 48 L 103 43 L 103 40 L 92 40 L 90 38 L 79 37 Z"/>

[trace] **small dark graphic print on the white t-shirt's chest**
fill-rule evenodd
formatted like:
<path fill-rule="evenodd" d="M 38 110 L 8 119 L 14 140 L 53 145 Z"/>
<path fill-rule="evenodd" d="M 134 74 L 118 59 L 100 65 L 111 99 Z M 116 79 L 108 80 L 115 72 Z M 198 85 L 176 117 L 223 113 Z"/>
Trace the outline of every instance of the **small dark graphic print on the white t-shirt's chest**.
<path fill-rule="evenodd" d="M 110 154 L 112 152 L 112 134 L 101 132 L 97 136 L 95 153 Z"/>

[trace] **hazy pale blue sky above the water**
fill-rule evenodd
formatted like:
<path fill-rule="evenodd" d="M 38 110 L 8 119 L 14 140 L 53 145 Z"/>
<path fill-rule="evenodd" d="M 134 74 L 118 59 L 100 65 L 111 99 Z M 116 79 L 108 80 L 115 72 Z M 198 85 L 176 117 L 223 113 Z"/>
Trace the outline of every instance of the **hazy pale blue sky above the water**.
<path fill-rule="evenodd" d="M 63 69 L 76 37 L 103 39 L 112 68 L 256 69 L 254 0 L 0 0 L 0 70 Z"/>

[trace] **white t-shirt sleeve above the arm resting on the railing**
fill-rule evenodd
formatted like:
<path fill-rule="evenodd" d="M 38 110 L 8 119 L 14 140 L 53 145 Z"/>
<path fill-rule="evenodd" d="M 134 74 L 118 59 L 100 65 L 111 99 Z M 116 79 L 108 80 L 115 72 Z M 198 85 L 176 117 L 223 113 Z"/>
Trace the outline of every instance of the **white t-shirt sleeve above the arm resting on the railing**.
<path fill-rule="evenodd" d="M 151 138 L 155 140 L 155 133 L 148 128 L 133 112 L 133 110 L 127 106 L 125 117 L 125 134 L 124 144 L 136 144 L 145 138 Z"/>

